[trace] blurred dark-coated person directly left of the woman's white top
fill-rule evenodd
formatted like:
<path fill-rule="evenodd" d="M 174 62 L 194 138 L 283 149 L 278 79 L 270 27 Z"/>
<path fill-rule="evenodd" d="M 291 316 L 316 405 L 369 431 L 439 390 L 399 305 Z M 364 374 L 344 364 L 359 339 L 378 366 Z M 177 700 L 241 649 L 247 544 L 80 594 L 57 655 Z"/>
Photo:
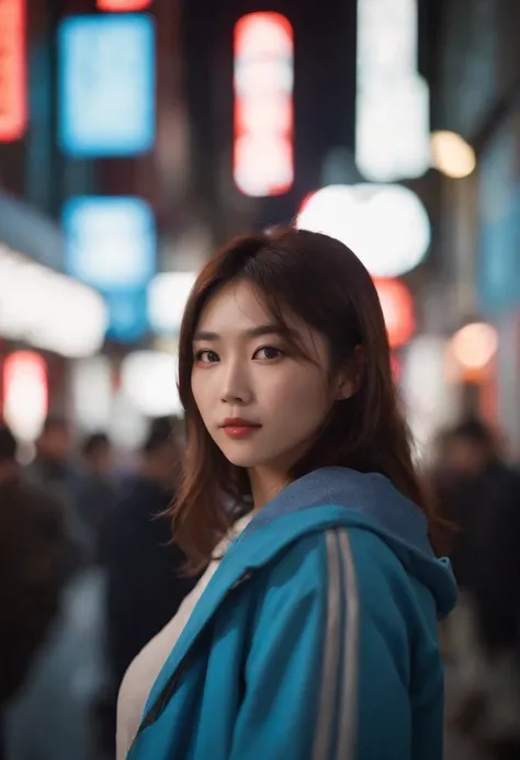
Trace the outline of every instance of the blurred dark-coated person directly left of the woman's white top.
<path fill-rule="evenodd" d="M 139 473 L 105 520 L 101 557 L 108 576 L 109 656 L 115 689 L 143 647 L 173 617 L 196 578 L 172 544 L 165 514 L 176 496 L 179 446 L 169 420 L 152 423 Z"/>

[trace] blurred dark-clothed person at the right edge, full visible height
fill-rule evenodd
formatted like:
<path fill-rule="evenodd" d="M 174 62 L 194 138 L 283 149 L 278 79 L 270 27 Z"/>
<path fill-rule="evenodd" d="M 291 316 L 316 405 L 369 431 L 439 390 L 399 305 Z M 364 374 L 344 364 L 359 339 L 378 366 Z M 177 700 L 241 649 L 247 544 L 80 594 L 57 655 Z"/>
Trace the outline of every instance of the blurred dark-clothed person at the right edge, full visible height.
<path fill-rule="evenodd" d="M 457 526 L 461 601 L 450 632 L 470 674 L 456 719 L 494 758 L 520 757 L 520 475 L 482 420 L 449 432 L 439 492 Z"/>

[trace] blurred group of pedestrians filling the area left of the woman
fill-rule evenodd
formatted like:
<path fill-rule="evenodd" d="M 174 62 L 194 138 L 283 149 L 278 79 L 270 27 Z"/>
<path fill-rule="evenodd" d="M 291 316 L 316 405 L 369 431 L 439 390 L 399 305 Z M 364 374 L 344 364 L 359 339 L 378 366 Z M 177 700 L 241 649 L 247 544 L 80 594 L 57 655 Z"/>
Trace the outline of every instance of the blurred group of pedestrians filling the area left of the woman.
<path fill-rule="evenodd" d="M 78 447 L 49 418 L 21 466 L 0 428 L 2 760 L 114 757 L 121 680 L 196 582 L 166 514 L 180 446 L 154 420 L 120 469 L 104 433 Z"/>

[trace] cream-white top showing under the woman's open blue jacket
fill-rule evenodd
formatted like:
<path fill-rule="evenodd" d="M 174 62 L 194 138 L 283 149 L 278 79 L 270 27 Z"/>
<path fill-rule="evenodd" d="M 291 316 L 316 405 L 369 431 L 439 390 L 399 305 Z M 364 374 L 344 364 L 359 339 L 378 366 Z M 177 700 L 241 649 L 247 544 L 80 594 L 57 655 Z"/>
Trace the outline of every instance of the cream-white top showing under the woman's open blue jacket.
<path fill-rule="evenodd" d="M 244 531 L 251 518 L 252 514 L 246 514 L 237 520 L 228 536 L 215 549 L 215 558 L 207 566 L 195 588 L 185 597 L 174 617 L 146 645 L 126 671 L 117 699 L 116 760 L 125 760 L 140 725 L 148 695 L 162 666 L 177 644 L 204 589 L 218 568 L 222 556 L 230 542 Z"/>

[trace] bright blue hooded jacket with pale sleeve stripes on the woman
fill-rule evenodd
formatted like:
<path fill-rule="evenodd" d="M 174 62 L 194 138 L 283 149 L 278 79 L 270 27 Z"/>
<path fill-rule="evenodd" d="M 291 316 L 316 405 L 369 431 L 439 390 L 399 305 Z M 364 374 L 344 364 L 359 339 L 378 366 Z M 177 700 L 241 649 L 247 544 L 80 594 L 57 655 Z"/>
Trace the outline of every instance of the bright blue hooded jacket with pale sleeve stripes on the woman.
<path fill-rule="evenodd" d="M 315 470 L 229 547 L 128 760 L 441 760 L 437 620 L 455 599 L 385 477 Z"/>

